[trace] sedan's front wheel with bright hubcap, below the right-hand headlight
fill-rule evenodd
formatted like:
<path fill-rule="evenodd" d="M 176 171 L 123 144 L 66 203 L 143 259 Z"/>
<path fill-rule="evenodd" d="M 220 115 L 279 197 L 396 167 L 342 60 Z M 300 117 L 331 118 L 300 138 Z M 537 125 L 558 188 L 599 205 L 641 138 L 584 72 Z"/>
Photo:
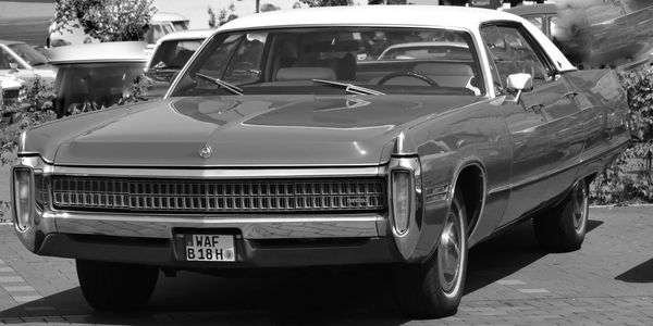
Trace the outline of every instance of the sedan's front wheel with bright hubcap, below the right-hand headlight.
<path fill-rule="evenodd" d="M 397 266 L 397 303 L 414 318 L 435 318 L 456 313 L 467 273 L 467 214 L 456 192 L 440 236 L 440 244 L 423 264 Z"/>

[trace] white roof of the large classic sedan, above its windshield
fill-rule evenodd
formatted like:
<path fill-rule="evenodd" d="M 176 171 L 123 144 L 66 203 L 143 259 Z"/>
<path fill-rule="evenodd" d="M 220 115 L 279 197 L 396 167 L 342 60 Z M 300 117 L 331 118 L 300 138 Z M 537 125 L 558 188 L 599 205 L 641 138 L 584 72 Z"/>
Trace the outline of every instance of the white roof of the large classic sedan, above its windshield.
<path fill-rule="evenodd" d="M 219 30 L 285 26 L 443 26 L 473 30 L 488 21 L 515 21 L 489 9 L 448 5 L 354 5 L 280 10 L 233 20 Z"/>

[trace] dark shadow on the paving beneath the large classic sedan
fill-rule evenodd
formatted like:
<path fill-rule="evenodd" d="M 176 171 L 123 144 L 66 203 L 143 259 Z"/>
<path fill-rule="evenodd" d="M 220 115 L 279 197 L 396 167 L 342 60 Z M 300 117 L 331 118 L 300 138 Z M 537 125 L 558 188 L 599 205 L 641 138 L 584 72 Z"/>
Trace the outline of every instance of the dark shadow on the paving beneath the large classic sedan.
<path fill-rule="evenodd" d="M 590 221 L 589 229 L 602 222 Z M 546 255 L 523 223 L 470 250 L 466 294 L 523 268 Z M 389 268 L 311 269 L 270 277 L 214 277 L 181 272 L 161 274 L 145 309 L 99 313 L 83 300 L 78 287 L 0 312 L 0 318 L 66 316 L 75 323 L 399 325 L 408 322 L 396 308 Z M 54 310 L 37 310 L 50 305 Z M 69 317 L 66 317 L 69 318 Z"/>

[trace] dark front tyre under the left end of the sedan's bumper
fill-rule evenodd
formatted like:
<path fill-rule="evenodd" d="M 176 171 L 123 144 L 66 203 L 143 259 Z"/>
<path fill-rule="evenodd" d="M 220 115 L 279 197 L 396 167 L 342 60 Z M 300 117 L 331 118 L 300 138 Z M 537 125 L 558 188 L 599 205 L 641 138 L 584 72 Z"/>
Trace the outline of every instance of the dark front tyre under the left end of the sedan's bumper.
<path fill-rule="evenodd" d="M 159 268 L 77 260 L 77 278 L 84 298 L 97 310 L 137 309 L 149 300 Z"/>

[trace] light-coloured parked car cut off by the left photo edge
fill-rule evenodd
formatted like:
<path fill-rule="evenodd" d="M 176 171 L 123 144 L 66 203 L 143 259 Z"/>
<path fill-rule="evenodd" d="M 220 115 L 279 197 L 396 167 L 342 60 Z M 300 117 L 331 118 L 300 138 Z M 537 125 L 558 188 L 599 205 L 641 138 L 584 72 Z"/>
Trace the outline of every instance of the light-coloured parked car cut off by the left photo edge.
<path fill-rule="evenodd" d="M 57 72 L 48 58 L 25 42 L 0 40 L 0 75 L 12 74 L 29 83 L 35 77 L 53 82 Z"/>

